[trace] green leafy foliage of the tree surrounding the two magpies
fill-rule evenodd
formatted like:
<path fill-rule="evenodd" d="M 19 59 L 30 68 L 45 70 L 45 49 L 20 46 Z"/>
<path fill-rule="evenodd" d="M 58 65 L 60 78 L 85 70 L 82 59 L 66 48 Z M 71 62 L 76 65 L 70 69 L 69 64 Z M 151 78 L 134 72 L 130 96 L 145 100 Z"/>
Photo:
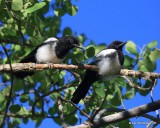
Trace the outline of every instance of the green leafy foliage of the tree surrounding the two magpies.
<path fill-rule="evenodd" d="M 54 9 L 54 16 L 46 17 L 49 7 Z M 65 14 L 70 16 L 76 15 L 78 7 L 73 5 L 70 0 L 56 0 L 55 3 L 48 1 L 35 2 L 33 0 L 0 0 L 0 39 L 10 40 L 3 42 L 9 54 L 9 58 L 2 52 L 1 64 L 19 62 L 26 56 L 35 46 L 39 45 L 46 38 L 61 34 L 74 35 L 70 27 L 61 27 L 61 18 Z M 83 44 L 86 40 L 84 34 L 76 35 L 78 40 Z M 8 45 L 9 44 L 9 45 Z M 74 49 L 72 54 L 69 53 L 64 63 L 77 64 L 94 56 L 97 52 L 106 47 L 106 44 L 98 46 L 92 41 L 91 45 L 87 46 L 86 52 L 79 52 Z M 160 51 L 155 49 L 156 41 L 150 42 L 145 49 L 139 51 L 136 44 L 129 41 L 126 45 L 124 68 L 136 69 L 141 71 L 154 71 L 157 67 L 156 61 L 160 58 Z M 60 71 L 47 70 L 37 71 L 33 76 L 20 80 L 14 78 L 11 82 L 11 74 L 1 74 L 0 87 L 0 113 L 6 110 L 6 103 L 9 100 L 9 92 L 12 86 L 11 101 L 8 110 L 10 113 L 21 115 L 20 118 L 7 120 L 6 127 L 18 127 L 22 122 L 27 124 L 29 118 L 36 122 L 38 127 L 47 116 L 52 116 L 53 121 L 59 125 L 62 122 L 59 117 L 58 97 L 61 96 L 66 100 L 70 100 L 79 83 L 79 78 L 82 78 L 84 71 Z M 151 85 L 151 81 L 140 83 L 138 79 L 133 79 L 133 83 L 147 88 Z M 99 81 L 93 84 L 90 93 L 80 102 L 83 110 L 90 114 L 101 104 L 101 100 L 105 97 L 105 91 L 108 90 L 106 102 L 103 108 L 119 107 L 121 101 L 131 99 L 136 93 L 145 96 L 149 91 L 139 91 L 133 89 L 121 77 L 115 81 Z M 85 104 L 84 104 L 85 103 Z M 81 119 L 81 113 L 77 115 L 77 109 L 70 103 L 63 102 L 64 120 L 69 125 L 76 124 Z M 31 108 L 31 109 L 30 109 Z M 24 115 L 28 118 L 24 118 Z M 57 116 L 58 115 L 58 116 Z M 2 120 L 0 120 L 2 122 Z M 128 120 L 116 123 L 115 126 L 131 127 Z"/>

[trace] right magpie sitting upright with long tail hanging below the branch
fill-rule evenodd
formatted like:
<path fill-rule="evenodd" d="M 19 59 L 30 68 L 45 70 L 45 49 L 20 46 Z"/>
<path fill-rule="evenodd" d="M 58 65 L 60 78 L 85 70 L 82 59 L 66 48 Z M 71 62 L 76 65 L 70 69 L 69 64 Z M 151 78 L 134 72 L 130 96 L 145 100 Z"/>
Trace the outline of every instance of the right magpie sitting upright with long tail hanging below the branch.
<path fill-rule="evenodd" d="M 86 70 L 82 82 L 72 96 L 73 103 L 78 104 L 81 99 L 84 99 L 94 82 L 111 80 L 120 73 L 124 62 L 122 48 L 125 44 L 126 42 L 113 41 L 108 48 L 86 61 L 85 64 L 97 65 L 98 71 Z"/>

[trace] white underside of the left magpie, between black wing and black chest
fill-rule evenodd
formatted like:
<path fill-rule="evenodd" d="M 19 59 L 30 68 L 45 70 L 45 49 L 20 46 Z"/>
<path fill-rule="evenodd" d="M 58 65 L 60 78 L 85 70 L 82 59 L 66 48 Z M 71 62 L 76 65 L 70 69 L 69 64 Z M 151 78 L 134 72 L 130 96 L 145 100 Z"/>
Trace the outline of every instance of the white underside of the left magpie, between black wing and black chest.
<path fill-rule="evenodd" d="M 50 41 L 50 40 L 49 40 Z M 47 43 L 46 41 L 44 43 Z M 38 48 L 36 60 L 38 63 L 61 63 L 63 59 L 59 59 L 55 53 L 55 43 L 48 43 Z"/>

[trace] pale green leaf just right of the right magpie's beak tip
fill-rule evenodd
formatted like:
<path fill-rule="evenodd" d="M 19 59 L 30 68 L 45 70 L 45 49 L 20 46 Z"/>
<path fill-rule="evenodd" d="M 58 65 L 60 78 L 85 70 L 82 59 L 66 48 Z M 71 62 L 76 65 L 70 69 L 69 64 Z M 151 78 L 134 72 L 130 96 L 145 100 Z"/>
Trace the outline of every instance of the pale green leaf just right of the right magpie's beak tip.
<path fill-rule="evenodd" d="M 128 41 L 127 44 L 126 44 L 126 50 L 133 54 L 133 55 L 138 55 L 138 52 L 137 52 L 137 48 L 136 48 L 136 45 L 133 41 Z"/>

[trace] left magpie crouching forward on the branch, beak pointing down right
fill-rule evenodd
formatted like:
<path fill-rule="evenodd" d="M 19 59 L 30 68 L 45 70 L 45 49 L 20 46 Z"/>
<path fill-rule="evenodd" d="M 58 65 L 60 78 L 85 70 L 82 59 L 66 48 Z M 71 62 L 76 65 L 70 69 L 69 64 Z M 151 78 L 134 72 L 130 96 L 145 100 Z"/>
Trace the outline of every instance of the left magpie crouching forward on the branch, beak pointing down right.
<path fill-rule="evenodd" d="M 83 46 L 79 44 L 79 41 L 75 37 L 51 37 L 35 48 L 29 55 L 22 59 L 20 63 L 32 62 L 59 64 L 62 63 L 67 53 L 74 47 L 83 49 Z M 34 72 L 16 72 L 14 75 L 22 79 L 33 74 Z"/>

